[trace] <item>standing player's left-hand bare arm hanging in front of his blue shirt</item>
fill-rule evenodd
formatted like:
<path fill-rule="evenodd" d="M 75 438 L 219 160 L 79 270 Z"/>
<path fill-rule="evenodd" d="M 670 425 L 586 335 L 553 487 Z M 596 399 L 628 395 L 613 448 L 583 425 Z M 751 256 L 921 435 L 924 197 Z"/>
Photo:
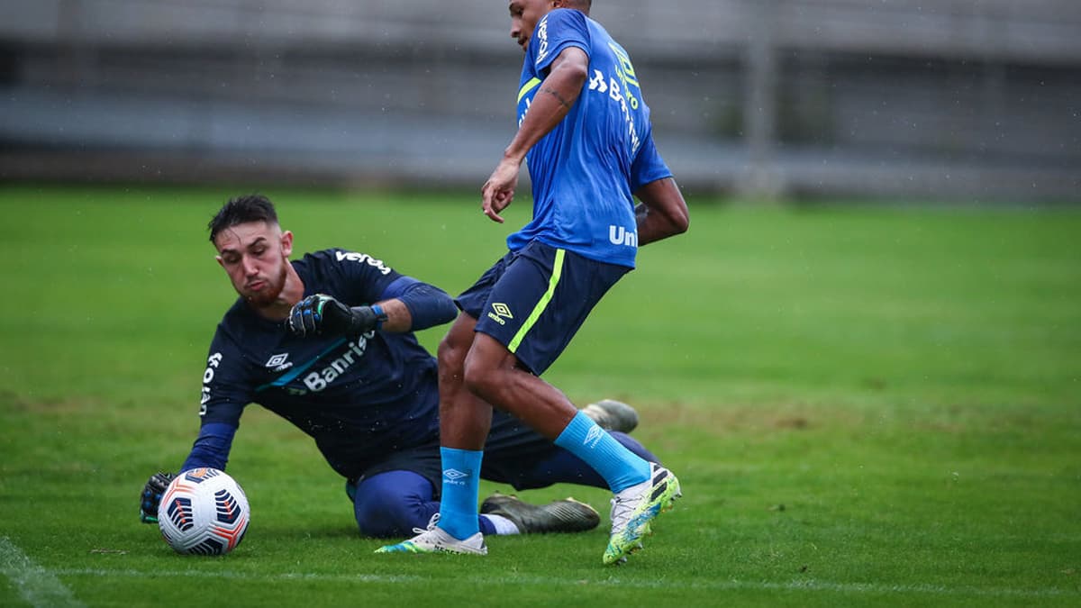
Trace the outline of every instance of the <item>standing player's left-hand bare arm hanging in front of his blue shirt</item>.
<path fill-rule="evenodd" d="M 510 204 L 518 186 L 518 173 L 525 154 L 540 137 L 556 128 L 582 93 L 589 71 L 589 56 L 577 47 L 564 49 L 551 64 L 551 71 L 538 85 L 538 93 L 525 113 L 518 133 L 503 153 L 503 160 L 481 188 L 484 215 L 503 223 L 499 212 Z"/>

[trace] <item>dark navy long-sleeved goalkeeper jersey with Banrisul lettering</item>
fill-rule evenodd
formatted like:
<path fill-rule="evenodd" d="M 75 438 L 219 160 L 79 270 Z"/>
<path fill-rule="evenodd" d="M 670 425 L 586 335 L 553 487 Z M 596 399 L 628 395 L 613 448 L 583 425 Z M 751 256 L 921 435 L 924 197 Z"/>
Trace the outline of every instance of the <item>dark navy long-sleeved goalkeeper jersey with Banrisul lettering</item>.
<path fill-rule="evenodd" d="M 325 293 L 349 306 L 385 300 L 393 295 L 395 281 L 412 280 L 379 260 L 341 249 L 292 264 L 305 296 Z M 284 321 L 265 319 L 238 299 L 211 342 L 200 440 L 223 437 L 214 453 L 224 448 L 227 454 L 241 412 L 255 402 L 315 438 L 341 475 L 357 477 L 389 453 L 438 439 L 436 368 L 412 332 L 296 338 Z M 208 460 L 198 448 L 199 441 L 184 468 L 224 468 L 221 457 Z"/>

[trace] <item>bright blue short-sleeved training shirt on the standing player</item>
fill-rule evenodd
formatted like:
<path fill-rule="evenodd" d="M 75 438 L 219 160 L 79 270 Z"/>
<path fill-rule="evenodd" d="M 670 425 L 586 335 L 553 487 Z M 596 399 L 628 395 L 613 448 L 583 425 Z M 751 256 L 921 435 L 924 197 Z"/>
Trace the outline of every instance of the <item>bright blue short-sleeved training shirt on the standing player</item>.
<path fill-rule="evenodd" d="M 507 237 L 507 247 L 518 251 L 538 239 L 633 267 L 638 230 L 632 194 L 671 171 L 653 145 L 650 108 L 627 51 L 580 11 L 549 12 L 525 52 L 518 123 L 552 61 L 569 47 L 589 55 L 589 75 L 566 117 L 529 151 L 533 220 Z"/>

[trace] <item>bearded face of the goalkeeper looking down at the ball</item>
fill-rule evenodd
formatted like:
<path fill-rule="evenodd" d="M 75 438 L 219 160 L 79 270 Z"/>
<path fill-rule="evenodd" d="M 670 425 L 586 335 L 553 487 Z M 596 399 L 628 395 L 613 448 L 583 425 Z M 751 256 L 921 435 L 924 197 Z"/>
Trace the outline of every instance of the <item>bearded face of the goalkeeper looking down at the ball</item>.
<path fill-rule="evenodd" d="M 269 306 L 285 287 L 293 234 L 278 224 L 251 222 L 222 230 L 214 239 L 217 263 L 232 287 L 254 306 Z"/>

